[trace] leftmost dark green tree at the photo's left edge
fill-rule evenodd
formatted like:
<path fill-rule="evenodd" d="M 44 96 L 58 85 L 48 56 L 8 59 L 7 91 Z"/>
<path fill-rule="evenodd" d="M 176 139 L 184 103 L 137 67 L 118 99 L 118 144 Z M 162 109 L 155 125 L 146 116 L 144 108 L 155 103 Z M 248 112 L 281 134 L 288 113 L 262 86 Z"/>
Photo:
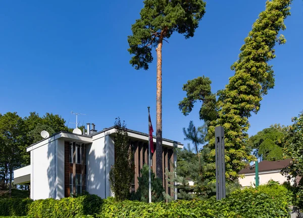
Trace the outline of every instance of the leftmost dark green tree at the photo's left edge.
<path fill-rule="evenodd" d="M 6 177 L 9 176 L 9 192 L 12 193 L 13 172 L 21 166 L 21 149 L 26 140 L 25 125 L 17 112 L 8 112 L 0 117 L 0 160 Z"/>

